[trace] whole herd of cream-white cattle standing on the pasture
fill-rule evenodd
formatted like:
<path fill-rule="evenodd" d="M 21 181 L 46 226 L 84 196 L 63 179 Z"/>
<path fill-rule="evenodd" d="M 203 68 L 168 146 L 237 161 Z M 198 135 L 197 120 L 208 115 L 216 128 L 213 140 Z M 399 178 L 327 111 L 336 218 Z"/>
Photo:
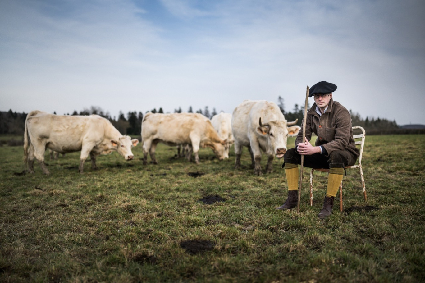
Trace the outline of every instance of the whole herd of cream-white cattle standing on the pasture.
<path fill-rule="evenodd" d="M 300 127 L 297 120 L 287 122 L 274 102 L 245 100 L 232 114 L 220 113 L 208 119 L 198 113 L 147 113 L 142 121 L 143 164 L 147 155 L 154 164 L 156 145 L 161 142 L 183 147 L 188 159 L 201 147 L 210 147 L 219 160 L 229 157 L 229 148 L 235 144 L 235 168 L 241 166 L 242 147 L 248 147 L 252 167 L 261 174 L 261 154 L 268 156 L 266 172 L 272 172 L 274 156 L 282 158 L 286 152 L 288 136 L 296 136 Z M 24 133 L 24 162 L 28 172 L 34 173 L 34 158 L 46 175 L 50 174 L 45 163 L 45 150 L 57 153 L 81 151 L 79 172 L 90 155 L 91 167 L 96 169 L 96 156 L 117 151 L 125 160 L 134 158 L 131 147 L 138 139 L 125 136 L 108 121 L 98 115 L 61 116 L 38 110 L 28 113 Z"/>

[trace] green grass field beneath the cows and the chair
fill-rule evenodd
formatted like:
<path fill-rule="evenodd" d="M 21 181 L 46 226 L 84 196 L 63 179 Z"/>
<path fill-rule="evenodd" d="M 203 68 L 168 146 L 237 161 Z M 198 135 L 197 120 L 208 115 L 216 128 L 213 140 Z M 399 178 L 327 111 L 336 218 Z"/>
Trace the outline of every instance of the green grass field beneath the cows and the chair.
<path fill-rule="evenodd" d="M 22 147 L 0 153 L 0 282 L 425 281 L 424 135 L 366 136 L 368 201 L 347 170 L 344 211 L 325 220 L 325 173 L 313 207 L 306 169 L 300 213 L 278 211 L 282 160 L 255 176 L 246 149 L 241 170 L 233 152 L 218 161 L 203 149 L 196 165 L 165 145 L 143 166 L 139 144 L 135 160 L 99 156 L 84 174 L 79 153 L 46 153 L 49 176 L 37 163 L 25 174 Z M 352 209 L 366 206 L 376 209 Z"/>

